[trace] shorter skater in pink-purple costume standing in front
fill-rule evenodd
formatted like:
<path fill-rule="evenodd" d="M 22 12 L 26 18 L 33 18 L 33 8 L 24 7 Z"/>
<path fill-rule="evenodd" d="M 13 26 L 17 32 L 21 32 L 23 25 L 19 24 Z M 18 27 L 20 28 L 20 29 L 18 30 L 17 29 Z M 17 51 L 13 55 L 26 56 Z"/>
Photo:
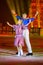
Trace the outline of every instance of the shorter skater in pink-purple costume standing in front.
<path fill-rule="evenodd" d="M 7 22 L 9 26 L 13 28 L 13 30 L 16 32 L 14 45 L 17 47 L 18 54 L 17 56 L 23 55 L 22 46 L 24 46 L 24 37 L 23 37 L 23 28 L 25 27 L 22 25 L 22 21 L 18 20 L 18 23 L 16 25 L 11 25 L 9 22 Z"/>

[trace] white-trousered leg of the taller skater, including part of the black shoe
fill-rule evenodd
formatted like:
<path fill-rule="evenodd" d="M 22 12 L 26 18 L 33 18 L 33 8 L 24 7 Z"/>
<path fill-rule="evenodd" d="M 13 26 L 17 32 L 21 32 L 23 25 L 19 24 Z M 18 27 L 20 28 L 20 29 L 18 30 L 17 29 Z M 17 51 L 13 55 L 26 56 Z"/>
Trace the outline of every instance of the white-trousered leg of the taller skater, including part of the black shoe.
<path fill-rule="evenodd" d="M 26 45 L 27 45 L 28 54 L 32 55 L 32 48 L 31 48 L 31 44 L 30 44 L 30 40 L 29 40 L 29 31 L 28 31 L 28 29 L 26 29 L 24 31 L 24 38 L 25 38 L 25 42 L 26 42 Z"/>

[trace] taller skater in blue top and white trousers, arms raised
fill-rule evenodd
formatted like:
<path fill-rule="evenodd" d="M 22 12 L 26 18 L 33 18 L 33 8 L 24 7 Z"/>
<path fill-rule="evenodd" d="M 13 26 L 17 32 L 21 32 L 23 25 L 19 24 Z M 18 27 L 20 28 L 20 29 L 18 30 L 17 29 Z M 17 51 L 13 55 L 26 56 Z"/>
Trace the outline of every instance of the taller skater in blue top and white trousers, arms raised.
<path fill-rule="evenodd" d="M 30 40 L 29 40 L 29 29 L 27 26 L 35 20 L 36 16 L 38 15 L 38 11 L 36 12 L 36 14 L 33 18 L 27 18 L 26 13 L 22 14 L 22 17 L 20 17 L 16 14 L 16 12 L 14 10 L 12 10 L 11 12 L 12 12 L 12 14 L 14 14 L 16 16 L 17 19 L 22 20 L 23 25 L 25 25 L 25 29 L 23 30 L 23 36 L 25 38 L 25 42 L 26 42 L 27 50 L 28 50 L 28 53 L 26 54 L 26 56 L 33 55 Z"/>

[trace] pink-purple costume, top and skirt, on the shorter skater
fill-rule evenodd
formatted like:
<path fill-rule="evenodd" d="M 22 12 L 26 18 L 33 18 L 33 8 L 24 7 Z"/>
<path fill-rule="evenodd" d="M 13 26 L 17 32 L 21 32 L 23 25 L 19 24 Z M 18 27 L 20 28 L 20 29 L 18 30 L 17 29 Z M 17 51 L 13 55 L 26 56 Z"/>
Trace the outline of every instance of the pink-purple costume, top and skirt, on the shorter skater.
<path fill-rule="evenodd" d="M 23 27 L 24 25 L 13 25 L 13 30 L 15 30 L 16 32 L 16 36 L 14 40 L 15 46 L 19 46 L 19 44 L 24 46 Z"/>

